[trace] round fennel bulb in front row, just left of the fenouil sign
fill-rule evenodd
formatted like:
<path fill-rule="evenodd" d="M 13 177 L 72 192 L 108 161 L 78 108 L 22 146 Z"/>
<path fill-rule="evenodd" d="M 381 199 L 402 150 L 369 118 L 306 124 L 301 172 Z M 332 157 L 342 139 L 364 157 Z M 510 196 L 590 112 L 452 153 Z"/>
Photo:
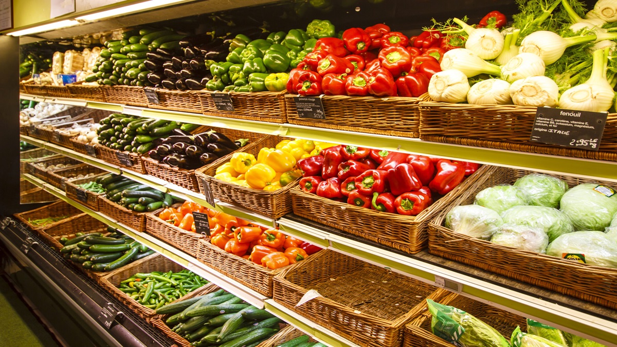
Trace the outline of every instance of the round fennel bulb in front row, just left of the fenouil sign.
<path fill-rule="evenodd" d="M 512 102 L 519 106 L 557 106 L 559 87 L 545 76 L 527 77 L 510 86 Z"/>

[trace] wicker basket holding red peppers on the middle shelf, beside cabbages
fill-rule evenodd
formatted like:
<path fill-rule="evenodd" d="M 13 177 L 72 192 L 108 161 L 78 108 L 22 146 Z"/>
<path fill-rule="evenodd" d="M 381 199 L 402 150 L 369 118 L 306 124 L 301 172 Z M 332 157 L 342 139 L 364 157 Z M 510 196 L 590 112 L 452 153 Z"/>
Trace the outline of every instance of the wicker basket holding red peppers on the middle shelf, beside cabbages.
<path fill-rule="evenodd" d="M 307 193 L 297 185 L 291 190 L 294 214 L 405 253 L 415 254 L 426 248 L 426 229 L 431 219 L 448 209 L 452 200 L 471 186 L 482 184 L 493 169 L 495 167 L 483 165 L 454 190 L 414 217 L 340 203 Z"/>

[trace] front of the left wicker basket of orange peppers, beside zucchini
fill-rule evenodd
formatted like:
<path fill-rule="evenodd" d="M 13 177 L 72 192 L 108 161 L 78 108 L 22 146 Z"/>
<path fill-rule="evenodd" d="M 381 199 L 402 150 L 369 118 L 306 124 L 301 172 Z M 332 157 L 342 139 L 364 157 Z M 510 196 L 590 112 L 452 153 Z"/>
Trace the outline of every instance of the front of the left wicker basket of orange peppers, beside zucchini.
<path fill-rule="evenodd" d="M 187 232 L 173 224 L 165 222 L 158 217 L 160 212 L 162 212 L 162 210 L 146 213 L 146 232 L 196 257 L 199 249 L 199 240 L 205 236 L 199 233 Z"/>

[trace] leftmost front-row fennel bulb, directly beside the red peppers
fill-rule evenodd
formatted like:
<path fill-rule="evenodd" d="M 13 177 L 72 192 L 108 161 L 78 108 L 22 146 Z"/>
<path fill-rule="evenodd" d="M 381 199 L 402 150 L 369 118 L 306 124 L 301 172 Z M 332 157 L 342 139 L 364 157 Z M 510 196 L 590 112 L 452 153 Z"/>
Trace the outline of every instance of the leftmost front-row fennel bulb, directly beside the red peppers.
<path fill-rule="evenodd" d="M 452 51 L 456 50 L 452 49 Z M 465 73 L 459 70 L 437 72 L 428 83 L 428 94 L 434 101 L 452 103 L 465 101 L 469 89 L 469 81 Z"/>

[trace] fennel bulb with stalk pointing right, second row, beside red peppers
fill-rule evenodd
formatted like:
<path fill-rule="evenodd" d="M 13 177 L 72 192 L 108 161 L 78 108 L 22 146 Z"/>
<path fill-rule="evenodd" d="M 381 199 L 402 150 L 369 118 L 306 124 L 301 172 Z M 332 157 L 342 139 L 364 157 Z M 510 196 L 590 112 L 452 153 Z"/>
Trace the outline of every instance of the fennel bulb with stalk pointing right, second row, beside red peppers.
<path fill-rule="evenodd" d="M 442 70 L 459 70 L 465 73 L 466 77 L 474 77 L 481 73 L 489 75 L 501 73 L 499 66 L 484 61 L 473 51 L 466 48 L 450 49 L 450 51 L 445 52 L 439 65 Z"/>

